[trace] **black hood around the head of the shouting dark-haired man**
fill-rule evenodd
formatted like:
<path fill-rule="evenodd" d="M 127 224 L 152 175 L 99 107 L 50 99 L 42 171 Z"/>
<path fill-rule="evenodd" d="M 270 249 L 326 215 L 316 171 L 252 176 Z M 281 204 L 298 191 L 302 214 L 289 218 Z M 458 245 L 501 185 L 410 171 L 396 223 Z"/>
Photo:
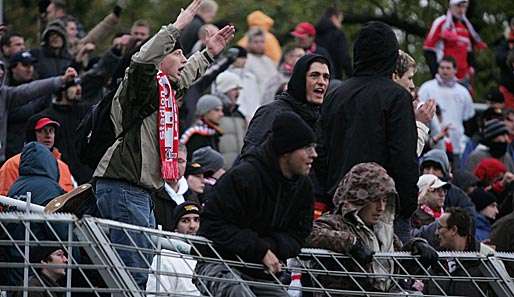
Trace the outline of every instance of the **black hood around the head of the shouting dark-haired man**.
<path fill-rule="evenodd" d="M 327 58 L 321 55 L 307 54 L 301 57 L 298 62 L 296 62 L 293 68 L 293 74 L 291 75 L 289 83 L 287 84 L 287 93 L 300 102 L 307 102 L 307 98 L 305 97 L 307 71 L 309 70 L 311 64 L 314 62 L 326 64 L 328 69 L 330 69 L 330 62 Z"/>

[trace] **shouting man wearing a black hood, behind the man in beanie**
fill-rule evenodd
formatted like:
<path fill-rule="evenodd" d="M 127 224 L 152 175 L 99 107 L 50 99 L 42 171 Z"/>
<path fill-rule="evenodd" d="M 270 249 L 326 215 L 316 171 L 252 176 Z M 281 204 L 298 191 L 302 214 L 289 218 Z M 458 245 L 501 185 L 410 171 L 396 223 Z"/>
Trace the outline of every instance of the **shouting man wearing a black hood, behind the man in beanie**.
<path fill-rule="evenodd" d="M 330 63 L 323 56 L 308 54 L 301 57 L 294 66 L 287 91 L 277 95 L 275 101 L 259 107 L 253 116 L 241 155 L 268 139 L 273 120 L 286 111 L 299 115 L 315 131 L 328 89 L 329 69 Z"/>

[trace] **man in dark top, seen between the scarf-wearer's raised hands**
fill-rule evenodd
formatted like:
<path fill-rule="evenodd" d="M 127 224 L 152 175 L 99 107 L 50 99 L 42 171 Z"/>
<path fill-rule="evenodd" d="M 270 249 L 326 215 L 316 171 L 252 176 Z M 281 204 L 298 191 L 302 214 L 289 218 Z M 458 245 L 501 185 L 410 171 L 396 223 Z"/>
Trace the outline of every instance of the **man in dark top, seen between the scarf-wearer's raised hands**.
<path fill-rule="evenodd" d="M 189 56 L 189 54 L 194 53 L 192 49 L 198 41 L 200 29 L 206 24 L 211 24 L 216 17 L 217 12 L 218 3 L 216 3 L 216 1 L 204 0 L 202 2 L 202 5 L 198 9 L 198 12 L 194 16 L 193 20 L 187 27 L 184 28 L 182 33 L 180 43 L 182 43 L 184 55 Z"/>

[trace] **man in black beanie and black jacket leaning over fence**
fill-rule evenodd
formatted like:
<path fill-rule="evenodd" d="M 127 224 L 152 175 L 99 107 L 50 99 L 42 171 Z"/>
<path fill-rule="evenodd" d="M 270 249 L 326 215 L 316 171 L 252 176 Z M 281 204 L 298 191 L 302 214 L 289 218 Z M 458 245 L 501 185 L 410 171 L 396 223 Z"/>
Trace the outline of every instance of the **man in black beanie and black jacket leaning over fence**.
<path fill-rule="evenodd" d="M 279 114 L 272 131 L 265 143 L 216 183 L 208 194 L 198 231 L 213 241 L 224 259 L 239 256 L 264 267 L 198 263 L 195 284 L 202 294 L 288 296 L 282 288 L 210 279 L 269 283 L 274 279 L 271 274 L 280 277 L 281 262 L 298 255 L 311 231 L 314 201 L 308 174 L 317 157 L 314 132 L 292 112 Z M 212 254 L 208 247 L 205 251 L 204 247 L 198 248 L 202 255 Z"/>

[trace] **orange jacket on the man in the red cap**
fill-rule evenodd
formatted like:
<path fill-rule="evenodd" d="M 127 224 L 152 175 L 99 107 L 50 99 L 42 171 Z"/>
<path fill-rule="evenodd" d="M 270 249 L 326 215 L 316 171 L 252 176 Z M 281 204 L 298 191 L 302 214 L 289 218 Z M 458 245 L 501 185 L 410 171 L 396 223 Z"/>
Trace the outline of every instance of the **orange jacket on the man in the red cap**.
<path fill-rule="evenodd" d="M 52 153 L 57 159 L 57 165 L 59 166 L 59 185 L 65 192 L 69 192 L 73 190 L 73 178 L 70 168 L 61 161 L 61 153 L 57 148 L 54 148 Z M 20 158 L 21 154 L 17 154 L 5 161 L 2 168 L 0 168 L 0 195 L 7 195 L 9 189 L 20 175 L 18 170 L 20 168 Z"/>

